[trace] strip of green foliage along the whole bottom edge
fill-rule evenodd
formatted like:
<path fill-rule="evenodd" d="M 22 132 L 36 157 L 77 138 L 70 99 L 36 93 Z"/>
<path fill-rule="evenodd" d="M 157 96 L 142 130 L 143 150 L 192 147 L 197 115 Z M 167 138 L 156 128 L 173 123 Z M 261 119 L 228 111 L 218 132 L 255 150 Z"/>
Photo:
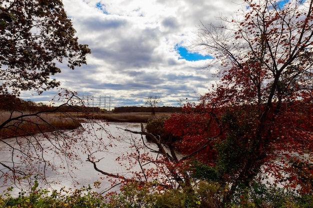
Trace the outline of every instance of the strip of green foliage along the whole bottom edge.
<path fill-rule="evenodd" d="M 98 186 L 95 183 L 95 186 Z M 0 196 L 1 208 L 311 208 L 313 197 L 299 197 L 283 189 L 253 184 L 240 190 L 231 202 L 223 203 L 227 189 L 219 183 L 207 180 L 192 180 L 192 185 L 159 192 L 152 189 L 153 183 L 129 183 L 119 194 L 102 195 L 92 187 L 76 190 L 49 192 L 37 189 L 38 183 L 29 193 L 20 192 L 17 197 L 9 192 Z M 9 188 L 8 191 L 12 189 Z"/>

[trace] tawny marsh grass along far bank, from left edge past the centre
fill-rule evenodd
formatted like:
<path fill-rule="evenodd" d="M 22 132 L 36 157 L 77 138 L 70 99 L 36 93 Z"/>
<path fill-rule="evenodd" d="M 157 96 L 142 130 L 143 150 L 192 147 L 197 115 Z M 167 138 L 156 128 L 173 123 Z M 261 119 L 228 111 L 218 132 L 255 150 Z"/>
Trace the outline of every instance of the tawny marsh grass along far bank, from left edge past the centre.
<path fill-rule="evenodd" d="M 16 118 L 29 112 L 0 112 L 0 125 L 9 118 Z M 156 113 L 155 116 L 170 115 L 170 113 Z M 48 113 L 38 116 L 27 116 L 22 119 L 12 120 L 0 127 L 0 139 L 29 136 L 38 133 L 52 132 L 57 130 L 76 129 L 81 126 L 82 119 L 99 119 L 108 122 L 132 122 L 146 123 L 153 118 L 151 113 Z"/>

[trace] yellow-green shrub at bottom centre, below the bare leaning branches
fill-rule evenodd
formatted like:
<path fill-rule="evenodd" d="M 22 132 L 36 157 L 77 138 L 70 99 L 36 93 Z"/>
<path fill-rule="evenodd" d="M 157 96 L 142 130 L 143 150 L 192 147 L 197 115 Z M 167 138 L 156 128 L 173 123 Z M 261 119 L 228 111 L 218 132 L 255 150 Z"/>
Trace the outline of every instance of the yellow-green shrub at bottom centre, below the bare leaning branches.
<path fill-rule="evenodd" d="M 119 194 L 110 194 L 107 208 L 220 208 L 222 192 L 217 183 L 204 180 L 157 191 L 152 183 L 132 182 Z M 155 184 L 154 184 L 155 185 Z"/>

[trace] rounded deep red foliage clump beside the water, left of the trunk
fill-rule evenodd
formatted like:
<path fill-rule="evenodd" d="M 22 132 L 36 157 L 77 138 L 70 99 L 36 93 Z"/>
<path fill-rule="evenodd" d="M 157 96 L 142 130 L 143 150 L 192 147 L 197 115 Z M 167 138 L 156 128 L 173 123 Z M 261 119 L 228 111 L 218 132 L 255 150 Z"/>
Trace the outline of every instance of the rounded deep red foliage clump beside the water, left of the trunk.
<path fill-rule="evenodd" d="M 221 137 L 222 126 L 212 108 L 187 104 L 183 113 L 173 114 L 165 121 L 165 131 L 180 139 L 174 146 L 184 155 L 196 155 L 201 162 L 213 164 L 216 152 L 213 150 L 214 138 Z M 213 139 L 212 139 L 213 138 Z"/>

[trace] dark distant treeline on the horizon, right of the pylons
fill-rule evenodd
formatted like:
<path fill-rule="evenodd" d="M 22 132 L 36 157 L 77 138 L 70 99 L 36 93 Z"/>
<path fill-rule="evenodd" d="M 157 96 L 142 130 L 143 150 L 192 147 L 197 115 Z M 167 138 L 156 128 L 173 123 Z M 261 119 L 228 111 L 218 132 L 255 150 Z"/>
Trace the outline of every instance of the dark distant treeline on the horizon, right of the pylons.
<path fill-rule="evenodd" d="M 151 107 L 137 107 L 137 106 L 124 106 L 114 107 L 113 113 L 130 113 L 130 112 L 151 112 Z M 162 106 L 155 107 L 154 112 L 156 113 L 179 113 L 181 112 L 180 107 Z"/>

